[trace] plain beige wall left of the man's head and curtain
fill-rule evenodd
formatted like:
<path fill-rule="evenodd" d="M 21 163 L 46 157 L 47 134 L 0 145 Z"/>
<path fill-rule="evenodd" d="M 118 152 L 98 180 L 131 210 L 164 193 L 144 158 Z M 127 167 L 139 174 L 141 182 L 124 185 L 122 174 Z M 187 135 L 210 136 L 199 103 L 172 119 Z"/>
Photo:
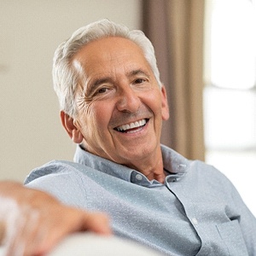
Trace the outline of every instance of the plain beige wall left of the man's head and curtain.
<path fill-rule="evenodd" d="M 140 28 L 139 0 L 0 0 L 0 179 L 22 181 L 53 159 L 72 160 L 51 82 L 55 48 L 108 18 Z"/>

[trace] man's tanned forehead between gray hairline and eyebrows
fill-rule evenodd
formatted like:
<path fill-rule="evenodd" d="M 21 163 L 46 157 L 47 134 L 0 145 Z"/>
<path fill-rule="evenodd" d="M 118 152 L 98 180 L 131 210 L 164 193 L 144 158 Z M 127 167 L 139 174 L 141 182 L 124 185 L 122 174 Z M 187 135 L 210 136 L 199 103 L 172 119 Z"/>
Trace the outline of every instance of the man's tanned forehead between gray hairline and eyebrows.
<path fill-rule="evenodd" d="M 117 73 L 121 69 L 151 69 L 143 49 L 127 38 L 101 38 L 84 45 L 74 55 L 75 66 L 82 67 L 85 75 Z"/>

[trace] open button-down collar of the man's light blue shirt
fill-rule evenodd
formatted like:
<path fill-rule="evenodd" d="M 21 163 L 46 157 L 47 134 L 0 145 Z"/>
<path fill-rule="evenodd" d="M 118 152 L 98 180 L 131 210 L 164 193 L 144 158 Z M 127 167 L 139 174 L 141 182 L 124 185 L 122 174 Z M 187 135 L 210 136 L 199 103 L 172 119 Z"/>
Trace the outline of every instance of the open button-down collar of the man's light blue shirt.
<path fill-rule="evenodd" d="M 166 172 L 170 173 L 172 179 L 177 181 L 183 177 L 183 174 L 189 167 L 189 160 L 185 159 L 181 154 L 178 154 L 171 148 L 161 145 L 163 155 L 163 163 Z M 149 181 L 141 172 L 137 172 L 129 167 L 119 165 L 111 160 L 104 159 L 95 154 L 90 154 L 79 145 L 73 158 L 74 162 L 93 168 L 99 172 L 104 172 L 114 177 L 119 177 L 127 182 L 137 183 L 142 186 L 151 187 L 162 185 L 158 181 Z M 167 177 L 169 177 L 167 176 Z M 166 177 L 166 178 L 167 178 Z"/>

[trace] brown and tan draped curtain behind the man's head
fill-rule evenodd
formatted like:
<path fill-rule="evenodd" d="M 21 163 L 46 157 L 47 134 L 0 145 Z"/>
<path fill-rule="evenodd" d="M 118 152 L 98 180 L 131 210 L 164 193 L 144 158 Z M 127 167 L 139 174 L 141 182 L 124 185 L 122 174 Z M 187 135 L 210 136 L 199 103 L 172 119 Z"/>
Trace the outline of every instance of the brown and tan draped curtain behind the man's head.
<path fill-rule="evenodd" d="M 143 32 L 154 44 L 170 108 L 161 143 L 204 160 L 204 0 L 143 0 L 142 9 Z"/>

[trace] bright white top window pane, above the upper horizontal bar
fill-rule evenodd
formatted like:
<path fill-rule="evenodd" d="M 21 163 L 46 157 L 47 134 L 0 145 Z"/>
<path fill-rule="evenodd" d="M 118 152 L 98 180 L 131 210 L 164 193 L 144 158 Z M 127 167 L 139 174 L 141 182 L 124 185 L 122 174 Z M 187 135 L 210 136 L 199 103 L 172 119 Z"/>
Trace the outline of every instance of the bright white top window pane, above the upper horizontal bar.
<path fill-rule="evenodd" d="M 250 89 L 256 80 L 256 11 L 249 0 L 212 1 L 211 81 Z"/>

